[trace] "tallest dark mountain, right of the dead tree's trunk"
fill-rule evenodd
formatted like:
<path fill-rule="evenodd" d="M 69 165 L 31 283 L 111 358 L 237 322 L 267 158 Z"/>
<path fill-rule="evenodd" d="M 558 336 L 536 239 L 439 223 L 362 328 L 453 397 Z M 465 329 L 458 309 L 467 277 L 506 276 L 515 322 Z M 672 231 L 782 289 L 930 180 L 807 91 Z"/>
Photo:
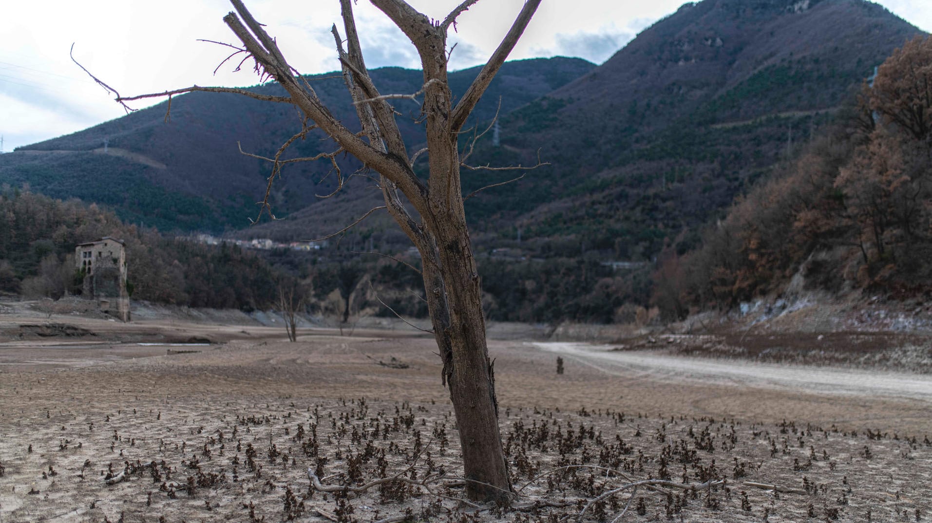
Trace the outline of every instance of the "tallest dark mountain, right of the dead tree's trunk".
<path fill-rule="evenodd" d="M 509 211 L 488 221 L 516 221 L 525 238 L 576 235 L 607 255 L 653 255 L 786 158 L 919 33 L 861 0 L 680 7 L 504 118 L 503 148 L 528 158 L 543 147 L 553 168 L 497 194 Z"/>

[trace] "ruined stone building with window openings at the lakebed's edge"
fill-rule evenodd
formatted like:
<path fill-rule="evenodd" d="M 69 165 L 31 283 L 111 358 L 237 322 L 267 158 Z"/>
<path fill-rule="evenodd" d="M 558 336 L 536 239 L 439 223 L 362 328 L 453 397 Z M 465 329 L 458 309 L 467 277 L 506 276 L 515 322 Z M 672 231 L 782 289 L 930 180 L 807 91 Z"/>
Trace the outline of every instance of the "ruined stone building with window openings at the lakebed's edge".
<path fill-rule="evenodd" d="M 130 321 L 126 290 L 126 249 L 122 240 L 104 236 L 75 247 L 75 268 L 84 273 L 82 295 L 97 301 L 101 311 Z"/>

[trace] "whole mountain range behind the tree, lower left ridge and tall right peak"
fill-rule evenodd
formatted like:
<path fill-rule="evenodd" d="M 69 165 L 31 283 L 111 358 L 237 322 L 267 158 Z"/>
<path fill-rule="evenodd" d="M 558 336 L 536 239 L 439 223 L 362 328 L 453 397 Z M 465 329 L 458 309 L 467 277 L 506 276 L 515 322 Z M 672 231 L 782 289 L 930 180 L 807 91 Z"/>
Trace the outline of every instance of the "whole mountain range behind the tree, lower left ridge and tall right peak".
<path fill-rule="evenodd" d="M 916 34 L 864 0 L 704 0 L 656 22 L 598 67 L 573 59 L 508 62 L 474 118 L 488 122 L 501 98 L 500 145 L 489 133 L 470 162 L 534 165 L 540 154 L 548 165 L 468 200 L 473 240 L 480 252 L 517 247 L 544 257 L 650 260 L 671 244 L 685 252 L 699 242 L 697 226 L 791 158 L 876 65 Z M 451 74 L 454 92 L 476 72 Z M 312 85 L 351 122 L 342 79 L 332 76 L 314 76 Z M 416 71 L 383 68 L 373 77 L 382 92 L 420 89 Z M 278 92 L 274 85 L 255 89 Z M 416 103 L 396 107 L 417 117 Z M 269 168 L 240 156 L 235 144 L 273 155 L 298 128 L 294 109 L 192 93 L 172 101 L 169 123 L 165 110 L 161 104 L 21 148 L 0 157 L 0 176 L 53 196 L 100 201 L 149 225 L 244 227 Z M 418 125 L 399 122 L 416 150 Z M 113 154 L 100 152 L 105 137 Z M 311 156 L 332 145 L 308 137 L 290 154 Z M 421 158 L 416 170 L 424 166 Z M 271 195 L 276 214 L 288 219 L 239 234 L 307 240 L 377 205 L 364 178 L 333 199 L 317 199 L 334 187 L 328 168 L 289 167 Z M 464 172 L 464 193 L 517 175 Z M 385 219 L 367 219 L 354 238 L 381 248 L 404 245 Z"/>

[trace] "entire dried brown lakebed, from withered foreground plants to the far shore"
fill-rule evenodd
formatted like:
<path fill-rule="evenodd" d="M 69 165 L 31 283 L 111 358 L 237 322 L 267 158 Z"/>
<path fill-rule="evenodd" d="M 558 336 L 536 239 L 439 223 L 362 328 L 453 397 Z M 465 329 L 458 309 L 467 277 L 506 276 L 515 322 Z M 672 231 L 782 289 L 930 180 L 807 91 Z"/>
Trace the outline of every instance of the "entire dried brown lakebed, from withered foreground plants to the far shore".
<path fill-rule="evenodd" d="M 501 511 L 460 501 L 428 337 L 305 331 L 288 343 L 251 324 L 79 317 L 48 323 L 93 336 L 19 337 L 47 319 L 13 316 L 0 315 L 4 523 L 932 518 L 928 376 L 884 374 L 911 380 L 907 393 L 859 390 L 827 386 L 838 377 L 826 369 L 809 383 L 802 366 L 794 380 L 775 373 L 794 367 L 492 342 L 520 489 Z M 167 345 L 192 337 L 213 344 Z M 308 468 L 326 485 L 406 481 L 344 495 L 312 488 Z M 588 504 L 648 478 L 698 489 L 645 485 Z"/>

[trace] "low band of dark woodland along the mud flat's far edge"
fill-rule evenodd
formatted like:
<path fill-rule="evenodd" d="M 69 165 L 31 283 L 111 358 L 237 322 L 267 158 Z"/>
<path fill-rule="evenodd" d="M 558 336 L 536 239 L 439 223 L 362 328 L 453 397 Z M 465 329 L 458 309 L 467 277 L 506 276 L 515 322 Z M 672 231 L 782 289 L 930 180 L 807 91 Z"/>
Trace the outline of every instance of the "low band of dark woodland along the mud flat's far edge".
<path fill-rule="evenodd" d="M 308 313 L 426 314 L 426 302 L 414 297 L 422 293 L 418 273 L 381 256 L 360 259 L 336 246 L 307 253 L 204 245 L 126 225 L 97 205 L 52 200 L 9 186 L 0 189 L 0 294 L 56 299 L 79 294 L 75 246 L 103 236 L 126 242 L 132 299 L 278 310 L 280 290 L 286 290 Z M 418 266 L 418 260 L 409 261 Z M 625 302 L 646 302 L 650 292 L 646 281 L 621 278 L 593 259 L 514 263 L 482 257 L 479 269 L 490 320 L 610 322 Z M 633 317 L 635 309 L 621 313 Z"/>

